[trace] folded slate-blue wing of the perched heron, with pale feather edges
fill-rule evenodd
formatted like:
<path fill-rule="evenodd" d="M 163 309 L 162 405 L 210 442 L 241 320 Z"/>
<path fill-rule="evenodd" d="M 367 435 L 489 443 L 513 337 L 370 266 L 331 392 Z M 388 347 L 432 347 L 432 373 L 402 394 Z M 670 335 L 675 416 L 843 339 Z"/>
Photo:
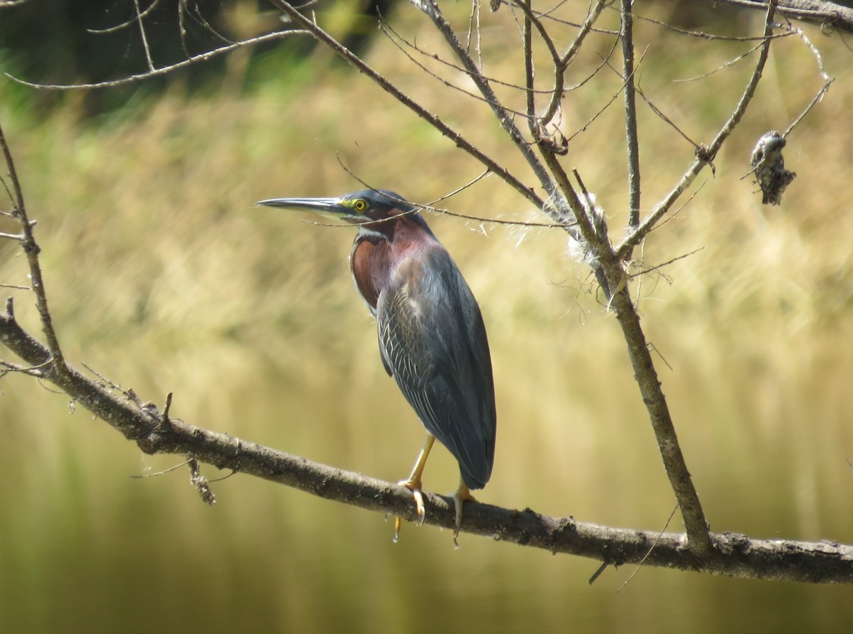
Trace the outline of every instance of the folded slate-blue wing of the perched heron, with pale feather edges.
<path fill-rule="evenodd" d="M 409 268 L 411 267 L 411 268 Z M 377 305 L 382 361 L 429 433 L 482 488 L 495 451 L 495 393 L 483 318 L 443 247 L 403 262 Z"/>

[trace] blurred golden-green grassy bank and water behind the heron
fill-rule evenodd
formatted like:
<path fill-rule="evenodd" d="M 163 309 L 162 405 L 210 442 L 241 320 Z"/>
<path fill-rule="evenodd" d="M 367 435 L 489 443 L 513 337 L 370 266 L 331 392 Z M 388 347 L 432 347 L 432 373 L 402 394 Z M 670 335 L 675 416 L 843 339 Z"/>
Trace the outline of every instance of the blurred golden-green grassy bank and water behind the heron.
<path fill-rule="evenodd" d="M 676 17 L 668 3 L 643 9 Z M 447 10 L 462 20 L 468 8 Z M 334 26 L 334 16 L 321 17 Z M 250 29 L 267 16 L 241 19 Z M 509 12 L 488 20 L 487 72 L 519 81 L 517 55 L 506 49 L 517 37 Z M 755 33 L 756 20 L 727 13 L 704 28 Z M 400 7 L 392 24 L 438 49 L 414 9 Z M 693 200 L 653 232 L 637 265 L 688 257 L 640 278 L 633 291 L 712 529 L 850 543 L 853 78 L 843 38 L 806 32 L 838 80 L 789 138 L 786 166 L 798 178 L 782 206 L 761 206 L 741 177 L 757 138 L 784 129 L 821 85 L 797 37 L 775 43 L 755 105 L 715 174 L 703 173 Z M 685 38 L 641 20 L 636 38 L 641 88 L 695 142 L 708 141 L 754 56 L 699 81 L 675 80 L 711 73 L 750 44 Z M 591 73 L 611 43 L 593 38 L 572 80 Z M 533 183 L 485 107 L 414 72 L 384 38 L 367 57 Z M 344 166 L 430 201 L 476 177 L 479 165 L 322 50 L 304 58 L 267 52 L 226 64 L 201 89 L 190 84 L 177 76 L 162 92 L 143 85 L 125 106 L 94 118 L 80 93 L 45 111 L 33 107 L 38 93 L 0 84 L 0 121 L 38 219 L 67 358 L 143 399 L 162 403 L 174 392 L 172 413 L 189 422 L 398 480 L 421 429 L 382 369 L 374 326 L 352 288 L 351 229 L 302 224 L 298 214 L 252 202 L 360 189 Z M 585 125 L 620 86 L 605 69 L 573 91 L 563 131 Z M 512 90 L 502 96 L 523 104 Z M 620 103 L 572 138 L 566 159 L 606 209 L 614 240 L 627 200 Z M 648 212 L 693 148 L 640 110 Z M 485 218 L 543 219 L 494 177 L 446 205 Z M 427 219 L 489 329 L 499 441 L 493 480 L 479 497 L 662 528 L 675 501 L 624 340 L 565 234 Z M 26 262 L 9 241 L 0 243 L 0 281 L 26 284 Z M 38 332 L 31 298 L 9 293 L 22 323 Z M 376 631 L 380 622 L 403 631 L 712 632 L 742 631 L 747 615 L 750 629 L 768 631 L 853 624 L 849 589 L 644 569 L 616 594 L 630 574 L 624 568 L 590 588 L 593 561 L 470 536 L 454 551 L 449 534 L 408 525 L 391 544 L 392 526 L 378 515 L 240 475 L 213 485 L 219 502 L 208 509 L 181 469 L 127 477 L 177 457 L 142 456 L 26 377 L 6 375 L 0 389 L 4 630 Z M 456 474 L 436 451 L 426 486 L 450 491 Z"/>

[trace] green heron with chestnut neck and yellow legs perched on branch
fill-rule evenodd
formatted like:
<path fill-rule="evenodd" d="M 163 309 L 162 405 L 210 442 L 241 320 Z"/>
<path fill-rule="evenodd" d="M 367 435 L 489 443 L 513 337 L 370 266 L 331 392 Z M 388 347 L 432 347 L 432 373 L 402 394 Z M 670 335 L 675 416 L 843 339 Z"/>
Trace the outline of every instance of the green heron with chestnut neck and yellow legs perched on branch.
<path fill-rule="evenodd" d="M 421 474 L 435 439 L 447 447 L 461 472 L 453 496 L 456 538 L 462 503 L 489 481 L 496 433 L 489 341 L 456 263 L 415 206 L 386 189 L 257 204 L 310 210 L 357 226 L 350 268 L 376 317 L 382 364 L 427 428 L 415 467 L 400 485 L 412 491 L 423 523 Z M 398 535 L 400 518 L 396 526 Z"/>

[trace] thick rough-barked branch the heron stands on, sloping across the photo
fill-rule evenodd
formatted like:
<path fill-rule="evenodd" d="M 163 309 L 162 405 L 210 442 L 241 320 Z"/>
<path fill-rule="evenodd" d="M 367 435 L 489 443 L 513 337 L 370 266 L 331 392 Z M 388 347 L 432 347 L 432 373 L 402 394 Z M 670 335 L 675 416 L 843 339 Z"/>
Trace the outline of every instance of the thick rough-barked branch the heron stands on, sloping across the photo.
<path fill-rule="evenodd" d="M 10 309 L 11 301 L 0 313 L 0 343 L 27 364 L 38 366 L 44 379 L 135 441 L 145 453 L 178 454 L 317 497 L 418 521 L 411 491 L 402 486 L 171 419 L 154 405 L 139 404 L 129 395 L 117 396 L 69 365 L 63 374 L 52 372 L 48 348 L 20 327 Z M 454 527 L 452 498 L 425 491 L 424 504 L 427 524 Z M 722 533 L 711 535 L 711 549 L 697 557 L 683 534 L 600 526 L 473 501 L 465 504 L 461 531 L 614 566 L 642 563 L 730 577 L 853 585 L 853 546 L 844 544 Z"/>

